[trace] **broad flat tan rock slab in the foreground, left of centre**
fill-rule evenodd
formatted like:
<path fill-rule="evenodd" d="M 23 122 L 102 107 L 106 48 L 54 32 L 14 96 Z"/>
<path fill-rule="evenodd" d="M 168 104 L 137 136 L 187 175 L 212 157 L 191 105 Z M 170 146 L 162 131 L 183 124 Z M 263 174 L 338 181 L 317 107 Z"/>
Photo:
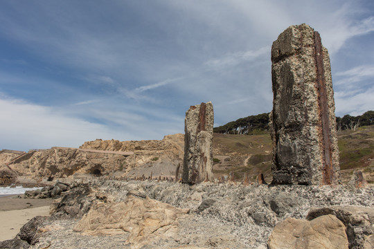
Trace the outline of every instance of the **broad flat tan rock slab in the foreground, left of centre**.
<path fill-rule="evenodd" d="M 139 199 L 130 195 L 121 203 L 97 203 L 74 231 L 91 235 L 130 232 L 127 242 L 138 248 L 161 237 L 175 236 L 178 219 L 188 211 L 149 197 Z"/>

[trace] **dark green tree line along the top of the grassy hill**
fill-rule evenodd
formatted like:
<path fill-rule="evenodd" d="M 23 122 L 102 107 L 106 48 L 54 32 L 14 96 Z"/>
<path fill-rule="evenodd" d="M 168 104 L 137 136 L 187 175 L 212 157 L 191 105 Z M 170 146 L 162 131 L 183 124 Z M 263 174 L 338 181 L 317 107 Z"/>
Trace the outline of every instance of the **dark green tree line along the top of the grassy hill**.
<path fill-rule="evenodd" d="M 350 116 L 349 114 L 343 118 L 337 117 L 337 130 L 342 131 L 351 129 L 355 131 L 358 127 L 373 125 L 374 111 L 366 111 L 359 116 Z M 239 118 L 238 120 L 228 122 L 220 127 L 213 128 L 214 133 L 251 135 L 258 131 L 269 131 L 269 113 L 248 116 L 247 118 Z"/>

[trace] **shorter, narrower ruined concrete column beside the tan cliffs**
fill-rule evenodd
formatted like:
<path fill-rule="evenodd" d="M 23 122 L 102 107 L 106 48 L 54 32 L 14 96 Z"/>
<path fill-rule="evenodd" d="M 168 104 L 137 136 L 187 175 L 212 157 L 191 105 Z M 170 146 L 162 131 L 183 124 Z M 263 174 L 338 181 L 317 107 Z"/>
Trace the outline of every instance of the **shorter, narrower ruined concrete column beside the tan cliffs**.
<path fill-rule="evenodd" d="M 184 163 L 182 182 L 213 181 L 213 104 L 191 106 L 184 121 Z"/>

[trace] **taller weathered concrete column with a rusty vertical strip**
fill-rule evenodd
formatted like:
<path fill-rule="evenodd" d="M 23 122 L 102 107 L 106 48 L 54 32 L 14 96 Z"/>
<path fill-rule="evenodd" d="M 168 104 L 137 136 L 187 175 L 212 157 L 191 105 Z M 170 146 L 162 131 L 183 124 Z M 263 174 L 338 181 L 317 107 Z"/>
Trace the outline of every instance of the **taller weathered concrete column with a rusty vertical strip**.
<path fill-rule="evenodd" d="M 306 24 L 290 26 L 271 47 L 273 183 L 340 182 L 328 50 Z"/>

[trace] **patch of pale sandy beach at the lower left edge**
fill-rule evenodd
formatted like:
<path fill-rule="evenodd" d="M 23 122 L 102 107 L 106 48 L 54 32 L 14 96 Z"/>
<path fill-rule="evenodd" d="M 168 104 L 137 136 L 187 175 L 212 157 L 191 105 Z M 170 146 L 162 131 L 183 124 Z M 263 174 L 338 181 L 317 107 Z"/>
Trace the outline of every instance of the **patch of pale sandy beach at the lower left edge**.
<path fill-rule="evenodd" d="M 22 196 L 22 195 L 19 195 Z M 49 215 L 52 199 L 23 199 L 17 195 L 0 196 L 0 241 L 13 239 L 34 216 Z"/>

